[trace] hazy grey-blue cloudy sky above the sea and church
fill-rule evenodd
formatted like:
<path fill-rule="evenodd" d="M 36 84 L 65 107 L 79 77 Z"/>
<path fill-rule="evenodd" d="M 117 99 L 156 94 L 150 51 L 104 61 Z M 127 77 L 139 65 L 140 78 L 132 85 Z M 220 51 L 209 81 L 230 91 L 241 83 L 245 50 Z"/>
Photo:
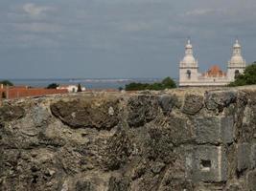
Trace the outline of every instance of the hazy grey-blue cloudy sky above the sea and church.
<path fill-rule="evenodd" d="M 176 78 L 188 36 L 200 72 L 255 61 L 256 1 L 0 0 L 0 78 Z"/>

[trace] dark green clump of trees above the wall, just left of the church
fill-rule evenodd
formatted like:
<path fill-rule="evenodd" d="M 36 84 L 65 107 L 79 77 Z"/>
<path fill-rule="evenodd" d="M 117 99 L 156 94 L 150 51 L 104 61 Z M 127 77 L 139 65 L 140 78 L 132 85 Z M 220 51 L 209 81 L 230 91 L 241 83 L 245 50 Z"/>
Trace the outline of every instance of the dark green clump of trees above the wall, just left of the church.
<path fill-rule="evenodd" d="M 171 77 L 166 77 L 161 82 L 156 82 L 152 84 L 132 82 L 126 85 L 126 91 L 165 90 L 165 89 L 172 89 L 172 88 L 176 88 L 176 84 Z"/>

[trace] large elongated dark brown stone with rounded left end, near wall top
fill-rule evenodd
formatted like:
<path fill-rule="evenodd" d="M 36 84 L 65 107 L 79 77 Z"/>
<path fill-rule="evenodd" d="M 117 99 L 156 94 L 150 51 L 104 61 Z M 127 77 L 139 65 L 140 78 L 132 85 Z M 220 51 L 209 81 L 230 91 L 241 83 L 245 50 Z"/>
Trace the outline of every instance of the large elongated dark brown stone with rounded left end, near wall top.
<path fill-rule="evenodd" d="M 118 124 L 117 100 L 60 100 L 51 105 L 51 111 L 74 128 L 110 129 Z"/>

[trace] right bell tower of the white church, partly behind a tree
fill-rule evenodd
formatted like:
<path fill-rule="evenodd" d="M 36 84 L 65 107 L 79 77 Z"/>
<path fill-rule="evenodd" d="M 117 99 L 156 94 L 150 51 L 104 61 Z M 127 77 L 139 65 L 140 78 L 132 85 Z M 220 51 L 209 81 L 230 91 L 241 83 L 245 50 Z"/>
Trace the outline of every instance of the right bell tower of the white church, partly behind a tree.
<path fill-rule="evenodd" d="M 236 43 L 233 46 L 233 55 L 227 66 L 227 76 L 230 81 L 234 81 L 236 75 L 244 73 L 245 60 L 242 56 L 241 49 L 239 41 L 236 40 Z"/>

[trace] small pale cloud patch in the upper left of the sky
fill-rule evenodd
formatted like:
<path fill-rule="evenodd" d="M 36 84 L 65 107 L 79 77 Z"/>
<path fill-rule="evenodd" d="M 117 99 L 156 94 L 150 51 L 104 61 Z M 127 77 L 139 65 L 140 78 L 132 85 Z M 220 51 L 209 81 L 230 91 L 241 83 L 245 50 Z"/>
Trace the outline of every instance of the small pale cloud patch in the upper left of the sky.
<path fill-rule="evenodd" d="M 46 7 L 46 6 L 36 6 L 33 3 L 27 3 L 25 5 L 23 5 L 22 7 L 23 11 L 25 11 L 26 13 L 32 15 L 32 16 L 38 16 L 42 13 L 44 13 L 45 11 L 52 11 L 54 10 L 51 7 Z"/>

